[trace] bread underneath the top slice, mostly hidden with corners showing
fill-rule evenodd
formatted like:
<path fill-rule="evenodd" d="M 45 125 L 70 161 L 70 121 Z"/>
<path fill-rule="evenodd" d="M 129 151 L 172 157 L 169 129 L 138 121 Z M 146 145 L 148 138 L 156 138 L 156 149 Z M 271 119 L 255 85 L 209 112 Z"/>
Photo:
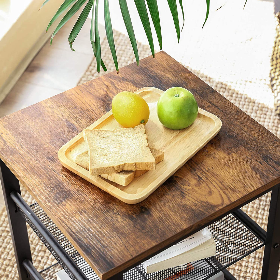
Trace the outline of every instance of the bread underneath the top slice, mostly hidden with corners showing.
<path fill-rule="evenodd" d="M 155 148 L 150 148 L 150 150 L 153 157 L 155 158 L 156 164 L 164 159 L 164 152 L 157 150 Z M 85 151 L 84 153 L 77 155 L 75 162 L 76 164 L 80 165 L 84 169 L 89 170 L 88 152 Z M 132 182 L 134 177 L 139 177 L 140 175 L 144 174 L 147 171 L 148 170 L 121 171 L 119 173 L 102 174 L 101 177 L 108 179 L 112 182 L 115 182 L 119 185 L 127 186 L 130 182 Z M 141 172 L 141 174 L 138 172 Z"/>

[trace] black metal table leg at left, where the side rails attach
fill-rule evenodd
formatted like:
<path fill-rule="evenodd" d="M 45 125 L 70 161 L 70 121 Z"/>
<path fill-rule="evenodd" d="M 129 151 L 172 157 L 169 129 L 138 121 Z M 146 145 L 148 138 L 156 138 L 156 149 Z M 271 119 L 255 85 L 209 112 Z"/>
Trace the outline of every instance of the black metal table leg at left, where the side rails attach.
<path fill-rule="evenodd" d="M 30 260 L 31 252 L 29 246 L 29 239 L 27 235 L 27 227 L 24 218 L 18 211 L 18 208 L 10 197 L 12 191 L 20 193 L 20 186 L 18 179 L 10 171 L 10 169 L 0 159 L 0 179 L 10 224 L 10 231 L 15 250 L 15 257 L 17 261 L 18 274 L 20 280 L 30 280 L 26 269 L 23 266 L 24 260 Z"/>

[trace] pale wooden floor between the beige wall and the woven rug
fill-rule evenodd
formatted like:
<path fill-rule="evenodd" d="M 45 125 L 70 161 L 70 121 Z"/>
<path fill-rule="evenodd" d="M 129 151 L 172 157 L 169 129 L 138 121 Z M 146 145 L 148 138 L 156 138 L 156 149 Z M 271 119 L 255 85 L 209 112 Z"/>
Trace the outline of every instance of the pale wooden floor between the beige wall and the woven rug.
<path fill-rule="evenodd" d="M 68 44 L 69 33 L 76 18 L 67 22 L 56 34 L 53 44 L 43 46 L 11 92 L 0 104 L 0 117 L 35 104 L 53 95 L 73 88 L 92 61 L 93 53 L 89 40 L 90 18 L 85 22 L 76 41 L 73 52 Z M 99 27 L 100 38 L 106 36 L 103 25 Z M 0 208 L 4 206 L 0 188 Z"/>

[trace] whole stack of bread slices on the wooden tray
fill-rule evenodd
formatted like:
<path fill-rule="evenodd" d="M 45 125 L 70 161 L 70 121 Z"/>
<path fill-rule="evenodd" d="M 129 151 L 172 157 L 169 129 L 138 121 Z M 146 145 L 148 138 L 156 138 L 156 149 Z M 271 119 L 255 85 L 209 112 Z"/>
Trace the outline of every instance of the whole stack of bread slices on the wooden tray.
<path fill-rule="evenodd" d="M 114 130 L 85 129 L 87 151 L 76 156 L 75 162 L 90 175 L 127 186 L 164 159 L 164 152 L 150 148 L 144 125 Z"/>

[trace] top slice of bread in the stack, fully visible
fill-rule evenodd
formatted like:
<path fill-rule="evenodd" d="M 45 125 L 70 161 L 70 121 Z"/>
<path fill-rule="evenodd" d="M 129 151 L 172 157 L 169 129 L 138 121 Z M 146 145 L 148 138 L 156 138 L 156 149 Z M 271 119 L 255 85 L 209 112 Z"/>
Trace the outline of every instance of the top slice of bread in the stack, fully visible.
<path fill-rule="evenodd" d="M 155 158 L 148 147 L 144 125 L 114 131 L 85 129 L 84 139 L 90 175 L 155 169 Z"/>

